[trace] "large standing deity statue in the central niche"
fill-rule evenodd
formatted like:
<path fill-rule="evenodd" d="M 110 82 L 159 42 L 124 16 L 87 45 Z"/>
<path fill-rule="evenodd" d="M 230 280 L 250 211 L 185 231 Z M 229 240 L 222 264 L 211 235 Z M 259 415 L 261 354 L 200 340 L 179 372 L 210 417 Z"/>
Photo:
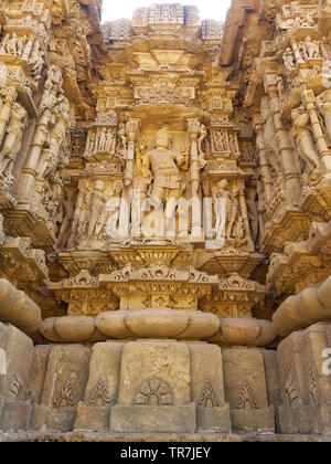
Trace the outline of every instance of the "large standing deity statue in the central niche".
<path fill-rule="evenodd" d="M 180 168 L 188 170 L 188 156 L 170 151 L 171 134 L 167 128 L 157 133 L 156 149 L 142 159 L 142 175 L 152 172 L 153 184 L 150 198 L 162 203 L 169 198 L 179 199 L 183 192 Z"/>

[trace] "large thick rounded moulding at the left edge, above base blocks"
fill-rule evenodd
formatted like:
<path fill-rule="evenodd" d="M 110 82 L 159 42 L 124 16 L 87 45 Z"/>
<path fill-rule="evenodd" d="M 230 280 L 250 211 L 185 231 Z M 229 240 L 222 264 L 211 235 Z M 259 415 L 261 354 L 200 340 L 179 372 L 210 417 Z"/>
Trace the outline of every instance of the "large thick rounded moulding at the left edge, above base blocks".
<path fill-rule="evenodd" d="M 33 334 L 42 323 L 41 309 L 24 292 L 1 278 L 0 320 L 17 326 L 25 334 Z"/>

